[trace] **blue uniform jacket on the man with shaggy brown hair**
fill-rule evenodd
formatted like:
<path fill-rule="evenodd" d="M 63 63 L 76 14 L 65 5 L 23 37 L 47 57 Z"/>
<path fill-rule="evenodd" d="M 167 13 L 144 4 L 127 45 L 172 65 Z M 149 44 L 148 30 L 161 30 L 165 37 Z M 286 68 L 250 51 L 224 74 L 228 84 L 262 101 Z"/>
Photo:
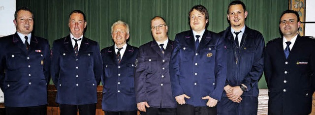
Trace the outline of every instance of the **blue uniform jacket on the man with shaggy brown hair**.
<path fill-rule="evenodd" d="M 175 48 L 169 63 L 173 96 L 186 94 L 186 104 L 207 106 L 210 96 L 221 100 L 226 78 L 224 39 L 217 33 L 205 30 L 198 49 L 192 30 L 176 34 Z"/>

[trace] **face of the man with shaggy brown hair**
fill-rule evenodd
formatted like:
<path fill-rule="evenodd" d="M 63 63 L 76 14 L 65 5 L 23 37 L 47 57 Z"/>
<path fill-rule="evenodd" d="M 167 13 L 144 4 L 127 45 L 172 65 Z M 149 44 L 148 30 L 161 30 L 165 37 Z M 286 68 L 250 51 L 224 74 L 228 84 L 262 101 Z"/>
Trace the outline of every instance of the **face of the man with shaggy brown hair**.
<path fill-rule="evenodd" d="M 199 12 L 196 9 L 193 9 L 190 12 L 190 27 L 192 30 L 196 32 L 201 32 L 203 29 L 206 28 L 206 24 L 208 23 L 208 20 L 206 20 L 205 15 Z"/>

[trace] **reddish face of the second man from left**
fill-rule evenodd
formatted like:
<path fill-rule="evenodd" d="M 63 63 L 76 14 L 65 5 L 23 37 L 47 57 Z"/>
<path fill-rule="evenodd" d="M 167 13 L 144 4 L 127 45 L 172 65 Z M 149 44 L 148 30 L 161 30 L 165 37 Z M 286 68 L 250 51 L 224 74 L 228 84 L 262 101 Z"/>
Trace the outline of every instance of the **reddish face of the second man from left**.
<path fill-rule="evenodd" d="M 69 28 L 71 34 L 79 38 L 83 35 L 84 29 L 87 26 L 87 22 L 84 21 L 84 17 L 81 13 L 73 13 L 69 19 Z"/>

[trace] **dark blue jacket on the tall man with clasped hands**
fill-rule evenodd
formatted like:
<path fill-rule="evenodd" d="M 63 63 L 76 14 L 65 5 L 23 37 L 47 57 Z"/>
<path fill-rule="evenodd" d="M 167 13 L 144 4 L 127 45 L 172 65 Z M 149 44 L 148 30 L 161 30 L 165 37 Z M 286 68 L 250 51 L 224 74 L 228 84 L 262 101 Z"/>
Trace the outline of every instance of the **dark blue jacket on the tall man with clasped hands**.
<path fill-rule="evenodd" d="M 239 49 L 236 48 L 231 27 L 221 31 L 227 51 L 226 85 L 239 86 L 244 84 L 247 90 L 242 96 L 258 97 L 258 80 L 263 72 L 265 42 L 262 34 L 245 27 Z M 223 91 L 222 96 L 226 97 Z"/>

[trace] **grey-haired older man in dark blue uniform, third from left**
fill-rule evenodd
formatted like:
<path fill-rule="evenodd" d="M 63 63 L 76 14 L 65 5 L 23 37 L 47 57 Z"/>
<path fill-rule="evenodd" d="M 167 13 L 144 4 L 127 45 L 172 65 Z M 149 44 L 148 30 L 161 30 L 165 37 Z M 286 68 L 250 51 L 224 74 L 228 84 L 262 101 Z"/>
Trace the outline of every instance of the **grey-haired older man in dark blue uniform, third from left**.
<path fill-rule="evenodd" d="M 137 115 L 134 67 L 139 52 L 126 43 L 129 26 L 123 21 L 112 25 L 113 46 L 101 50 L 103 58 L 102 109 L 106 115 Z"/>

